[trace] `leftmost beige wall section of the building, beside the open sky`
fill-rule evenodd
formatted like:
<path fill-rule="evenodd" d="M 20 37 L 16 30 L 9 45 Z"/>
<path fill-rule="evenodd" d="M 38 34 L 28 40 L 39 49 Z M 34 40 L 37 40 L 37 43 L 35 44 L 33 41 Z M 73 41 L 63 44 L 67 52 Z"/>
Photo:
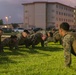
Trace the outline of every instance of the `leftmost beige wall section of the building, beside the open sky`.
<path fill-rule="evenodd" d="M 34 4 L 24 6 L 24 25 L 25 28 L 33 27 L 34 24 Z"/>

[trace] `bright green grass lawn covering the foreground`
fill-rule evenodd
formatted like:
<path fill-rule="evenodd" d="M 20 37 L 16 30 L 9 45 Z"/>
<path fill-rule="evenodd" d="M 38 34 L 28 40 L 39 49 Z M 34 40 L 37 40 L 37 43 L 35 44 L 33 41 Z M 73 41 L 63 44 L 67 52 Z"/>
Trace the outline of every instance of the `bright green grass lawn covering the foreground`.
<path fill-rule="evenodd" d="M 64 66 L 63 48 L 59 43 L 35 49 L 21 46 L 19 50 L 4 49 L 0 53 L 0 75 L 76 75 L 76 57 L 70 68 Z"/>

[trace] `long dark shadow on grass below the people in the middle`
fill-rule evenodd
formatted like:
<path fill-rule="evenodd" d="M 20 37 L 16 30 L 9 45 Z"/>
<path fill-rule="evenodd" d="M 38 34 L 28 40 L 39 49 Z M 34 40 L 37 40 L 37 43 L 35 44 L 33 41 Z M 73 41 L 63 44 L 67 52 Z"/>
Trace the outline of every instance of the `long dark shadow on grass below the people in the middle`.
<path fill-rule="evenodd" d="M 20 50 L 20 52 L 27 52 L 30 54 L 43 54 L 44 56 L 50 56 L 49 54 L 45 52 L 40 52 L 39 50 L 42 51 L 50 51 L 50 52 L 58 52 L 63 50 L 62 48 L 59 47 L 40 47 L 40 46 L 35 46 L 35 48 L 27 48 L 26 50 Z"/>

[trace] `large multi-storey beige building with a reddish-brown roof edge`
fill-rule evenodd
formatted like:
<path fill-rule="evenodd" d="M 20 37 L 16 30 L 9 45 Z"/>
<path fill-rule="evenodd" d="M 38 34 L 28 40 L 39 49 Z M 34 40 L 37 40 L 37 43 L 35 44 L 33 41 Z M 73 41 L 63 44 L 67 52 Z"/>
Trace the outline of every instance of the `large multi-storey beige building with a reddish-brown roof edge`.
<path fill-rule="evenodd" d="M 28 27 L 40 27 L 43 29 L 55 27 L 58 29 L 62 22 L 68 22 L 75 26 L 75 8 L 58 2 L 33 2 L 23 3 L 24 25 Z"/>

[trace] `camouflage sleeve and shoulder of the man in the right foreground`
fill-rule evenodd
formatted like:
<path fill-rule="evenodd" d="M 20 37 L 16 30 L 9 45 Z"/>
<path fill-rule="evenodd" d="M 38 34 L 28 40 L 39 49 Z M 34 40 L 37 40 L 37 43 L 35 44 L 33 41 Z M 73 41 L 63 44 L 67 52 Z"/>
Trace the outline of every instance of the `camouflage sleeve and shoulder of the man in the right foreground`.
<path fill-rule="evenodd" d="M 64 47 L 64 58 L 65 65 L 70 66 L 71 64 L 71 51 L 72 51 L 72 42 L 74 41 L 74 37 L 70 34 L 65 34 L 63 37 L 63 47 Z"/>

